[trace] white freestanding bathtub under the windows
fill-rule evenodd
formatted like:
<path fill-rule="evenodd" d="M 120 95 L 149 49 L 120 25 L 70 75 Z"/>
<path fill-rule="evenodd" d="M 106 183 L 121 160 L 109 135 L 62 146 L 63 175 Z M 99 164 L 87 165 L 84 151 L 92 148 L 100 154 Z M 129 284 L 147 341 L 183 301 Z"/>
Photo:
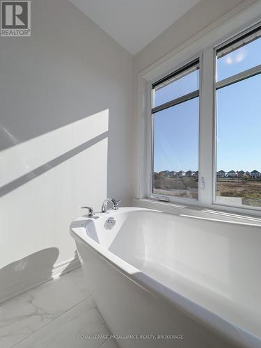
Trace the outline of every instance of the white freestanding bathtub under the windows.
<path fill-rule="evenodd" d="M 72 222 L 113 337 L 122 348 L 260 348 L 260 223 L 180 215 L 125 207 Z"/>

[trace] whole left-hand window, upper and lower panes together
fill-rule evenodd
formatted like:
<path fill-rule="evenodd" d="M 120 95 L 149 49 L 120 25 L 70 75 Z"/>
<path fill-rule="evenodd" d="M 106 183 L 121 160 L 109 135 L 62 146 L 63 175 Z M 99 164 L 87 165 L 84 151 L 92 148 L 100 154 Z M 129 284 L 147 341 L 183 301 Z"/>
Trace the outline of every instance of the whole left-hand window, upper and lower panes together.
<path fill-rule="evenodd" d="M 152 84 L 152 194 L 198 199 L 199 60 Z"/>

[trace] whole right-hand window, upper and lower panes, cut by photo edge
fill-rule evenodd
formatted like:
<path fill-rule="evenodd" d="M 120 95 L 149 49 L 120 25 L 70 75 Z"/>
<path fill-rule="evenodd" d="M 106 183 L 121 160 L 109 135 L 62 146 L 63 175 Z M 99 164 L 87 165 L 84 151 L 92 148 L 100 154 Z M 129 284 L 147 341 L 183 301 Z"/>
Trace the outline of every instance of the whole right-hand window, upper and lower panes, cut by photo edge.
<path fill-rule="evenodd" d="M 261 30 L 216 49 L 215 203 L 261 207 Z"/>

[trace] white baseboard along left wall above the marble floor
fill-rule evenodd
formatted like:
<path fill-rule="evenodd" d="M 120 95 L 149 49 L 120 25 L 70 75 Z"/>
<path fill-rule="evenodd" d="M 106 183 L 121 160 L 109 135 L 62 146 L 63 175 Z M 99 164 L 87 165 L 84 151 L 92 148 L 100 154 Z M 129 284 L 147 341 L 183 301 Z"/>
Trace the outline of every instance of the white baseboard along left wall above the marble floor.
<path fill-rule="evenodd" d="M 73 269 L 77 269 L 81 266 L 78 258 L 70 258 L 63 262 L 54 264 L 52 272 L 43 270 L 42 272 L 36 272 L 30 276 L 25 276 L 17 283 L 5 284 L 0 289 L 0 303 L 13 299 L 15 296 L 23 294 L 26 291 L 32 290 L 34 287 L 47 283 L 50 280 L 60 278 L 63 274 L 66 274 Z M 1 279 L 0 279 L 1 283 Z"/>

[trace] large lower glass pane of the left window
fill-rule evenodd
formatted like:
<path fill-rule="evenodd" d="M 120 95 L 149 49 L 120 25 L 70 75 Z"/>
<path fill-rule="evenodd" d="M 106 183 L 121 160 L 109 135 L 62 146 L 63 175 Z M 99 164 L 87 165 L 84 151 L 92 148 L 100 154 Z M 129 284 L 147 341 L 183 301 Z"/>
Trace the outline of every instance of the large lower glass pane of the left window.
<path fill-rule="evenodd" d="M 198 114 L 196 97 L 153 115 L 153 193 L 198 199 Z"/>

